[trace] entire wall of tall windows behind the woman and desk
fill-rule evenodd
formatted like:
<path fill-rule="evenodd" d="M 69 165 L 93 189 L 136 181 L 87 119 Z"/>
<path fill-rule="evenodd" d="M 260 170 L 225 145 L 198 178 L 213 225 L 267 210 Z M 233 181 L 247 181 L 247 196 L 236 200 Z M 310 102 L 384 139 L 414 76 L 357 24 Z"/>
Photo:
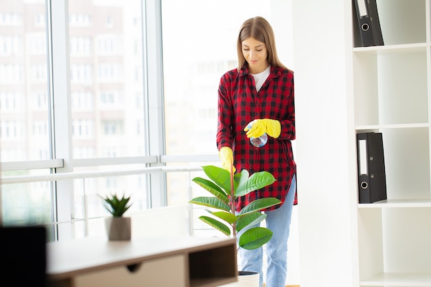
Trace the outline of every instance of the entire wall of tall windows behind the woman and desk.
<path fill-rule="evenodd" d="M 238 29 L 249 17 L 269 19 L 280 59 L 291 67 L 285 5 L 1 1 L 1 176 L 121 173 L 2 184 L 3 224 L 61 222 L 57 234 L 81 237 L 103 232 L 99 195 L 132 195 L 131 211 L 187 204 L 192 173 L 123 171 L 219 162 L 217 88 L 237 65 Z M 20 162 L 20 169 L 3 169 Z"/>

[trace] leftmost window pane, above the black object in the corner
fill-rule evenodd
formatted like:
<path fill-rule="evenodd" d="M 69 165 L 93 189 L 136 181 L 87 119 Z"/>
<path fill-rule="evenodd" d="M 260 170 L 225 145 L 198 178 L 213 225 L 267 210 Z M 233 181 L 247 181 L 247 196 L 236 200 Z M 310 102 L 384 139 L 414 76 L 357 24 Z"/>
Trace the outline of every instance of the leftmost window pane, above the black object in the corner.
<path fill-rule="evenodd" d="M 2 162 L 49 160 L 50 93 L 45 0 L 1 1 L 0 5 L 0 147 Z M 23 176 L 39 171 L 6 171 Z M 52 221 L 47 182 L 1 187 L 2 221 L 45 224 Z"/>

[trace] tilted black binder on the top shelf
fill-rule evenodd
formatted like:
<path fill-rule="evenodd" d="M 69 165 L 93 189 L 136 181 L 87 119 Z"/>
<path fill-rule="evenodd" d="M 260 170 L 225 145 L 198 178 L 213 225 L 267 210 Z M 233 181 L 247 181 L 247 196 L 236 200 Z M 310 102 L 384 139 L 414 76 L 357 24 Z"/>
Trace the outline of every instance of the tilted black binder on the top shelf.
<path fill-rule="evenodd" d="M 361 35 L 362 46 L 377 46 L 383 44 L 379 12 L 376 0 L 353 0 Z"/>

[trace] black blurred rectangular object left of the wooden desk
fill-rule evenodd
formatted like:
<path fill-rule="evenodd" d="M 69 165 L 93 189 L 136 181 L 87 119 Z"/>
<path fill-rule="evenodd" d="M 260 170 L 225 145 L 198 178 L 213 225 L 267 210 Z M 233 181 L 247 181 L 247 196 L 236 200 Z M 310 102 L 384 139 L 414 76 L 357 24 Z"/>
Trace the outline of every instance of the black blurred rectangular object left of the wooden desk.
<path fill-rule="evenodd" d="M 8 287 L 45 287 L 46 229 L 43 226 L 0 227 L 0 276 Z"/>

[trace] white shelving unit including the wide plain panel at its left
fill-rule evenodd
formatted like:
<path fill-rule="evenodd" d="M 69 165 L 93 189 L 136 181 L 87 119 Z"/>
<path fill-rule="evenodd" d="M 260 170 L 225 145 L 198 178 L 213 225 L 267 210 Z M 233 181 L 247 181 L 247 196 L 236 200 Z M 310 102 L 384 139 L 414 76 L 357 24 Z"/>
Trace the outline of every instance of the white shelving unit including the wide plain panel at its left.
<path fill-rule="evenodd" d="M 431 0 L 292 0 L 301 287 L 431 287 Z M 388 200 L 358 203 L 356 134 L 383 134 Z"/>

